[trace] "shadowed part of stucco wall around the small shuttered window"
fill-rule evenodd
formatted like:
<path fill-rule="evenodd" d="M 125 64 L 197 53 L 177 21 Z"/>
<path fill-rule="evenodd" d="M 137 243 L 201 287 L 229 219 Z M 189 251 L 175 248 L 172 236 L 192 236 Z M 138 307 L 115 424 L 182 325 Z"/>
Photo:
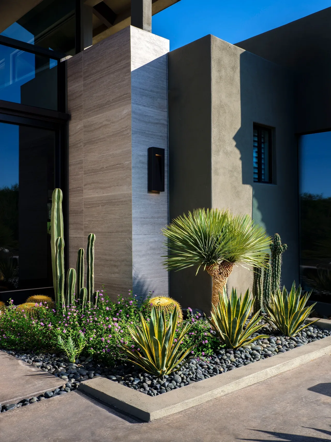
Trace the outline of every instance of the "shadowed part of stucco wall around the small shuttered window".
<path fill-rule="evenodd" d="M 240 55 L 241 127 L 233 137 L 241 154 L 242 184 L 252 186 L 252 218 L 288 245 L 282 281 L 299 282 L 297 140 L 293 74 L 247 51 Z M 253 124 L 273 128 L 272 183 L 253 182 Z M 278 163 L 278 164 L 277 164 Z M 277 168 L 276 168 L 277 166 Z"/>

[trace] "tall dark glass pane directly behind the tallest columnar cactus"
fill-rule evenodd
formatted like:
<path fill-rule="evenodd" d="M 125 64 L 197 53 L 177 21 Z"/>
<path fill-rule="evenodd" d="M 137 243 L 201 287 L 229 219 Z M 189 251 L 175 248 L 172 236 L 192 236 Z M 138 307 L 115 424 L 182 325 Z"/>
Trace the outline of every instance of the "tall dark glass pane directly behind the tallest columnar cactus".
<path fill-rule="evenodd" d="M 55 132 L 0 123 L 0 291 L 52 286 Z"/>

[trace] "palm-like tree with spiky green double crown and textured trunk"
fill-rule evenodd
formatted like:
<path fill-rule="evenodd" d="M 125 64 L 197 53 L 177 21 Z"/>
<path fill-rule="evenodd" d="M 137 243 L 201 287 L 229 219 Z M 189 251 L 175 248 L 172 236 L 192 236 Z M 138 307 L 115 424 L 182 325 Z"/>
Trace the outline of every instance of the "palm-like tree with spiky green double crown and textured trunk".
<path fill-rule="evenodd" d="M 248 215 L 233 215 L 228 210 L 197 209 L 177 217 L 162 233 L 168 241 L 163 264 L 168 270 L 203 267 L 213 280 L 212 303 L 236 263 L 265 266 L 265 253 L 271 238 Z"/>

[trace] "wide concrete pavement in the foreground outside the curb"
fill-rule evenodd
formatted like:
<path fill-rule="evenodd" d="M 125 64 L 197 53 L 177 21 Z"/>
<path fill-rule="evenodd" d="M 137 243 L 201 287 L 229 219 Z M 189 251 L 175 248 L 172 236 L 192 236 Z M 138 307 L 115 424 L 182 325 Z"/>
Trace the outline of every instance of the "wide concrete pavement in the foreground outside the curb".
<path fill-rule="evenodd" d="M 70 392 L 1 414 L 0 435 L 6 442 L 331 441 L 331 356 L 152 423 Z"/>

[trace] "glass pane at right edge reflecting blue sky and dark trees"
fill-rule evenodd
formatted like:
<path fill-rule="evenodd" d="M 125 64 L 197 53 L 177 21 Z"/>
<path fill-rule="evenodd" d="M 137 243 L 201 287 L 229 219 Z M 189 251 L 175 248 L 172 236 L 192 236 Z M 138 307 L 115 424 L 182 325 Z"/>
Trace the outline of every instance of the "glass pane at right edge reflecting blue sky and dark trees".
<path fill-rule="evenodd" d="M 331 132 L 299 140 L 301 282 L 331 302 Z"/>

